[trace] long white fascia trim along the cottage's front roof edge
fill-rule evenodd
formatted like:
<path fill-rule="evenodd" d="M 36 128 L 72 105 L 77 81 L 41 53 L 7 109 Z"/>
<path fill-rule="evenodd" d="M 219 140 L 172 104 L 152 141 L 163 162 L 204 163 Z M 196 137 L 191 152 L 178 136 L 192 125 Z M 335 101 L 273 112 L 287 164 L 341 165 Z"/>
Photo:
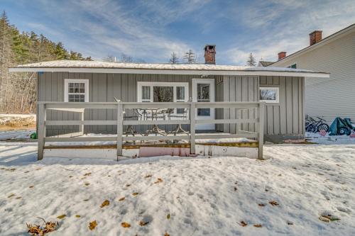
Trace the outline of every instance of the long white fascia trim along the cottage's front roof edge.
<path fill-rule="evenodd" d="M 9 72 L 70 72 L 70 73 L 118 73 L 118 74 L 193 74 L 193 75 L 253 75 L 280 77 L 315 77 L 329 78 L 325 72 L 285 72 L 266 70 L 197 70 L 197 69 L 118 69 L 118 68 L 40 68 L 13 67 Z"/>

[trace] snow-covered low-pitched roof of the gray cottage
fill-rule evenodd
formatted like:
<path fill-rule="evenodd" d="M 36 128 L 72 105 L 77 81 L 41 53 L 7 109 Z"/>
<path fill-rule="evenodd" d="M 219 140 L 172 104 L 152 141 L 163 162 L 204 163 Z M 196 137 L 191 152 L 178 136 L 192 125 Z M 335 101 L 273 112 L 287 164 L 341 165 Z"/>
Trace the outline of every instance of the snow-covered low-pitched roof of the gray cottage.
<path fill-rule="evenodd" d="M 68 70 L 70 69 L 70 70 Z M 76 70 L 75 70 L 76 69 Z M 101 69 L 101 70 L 94 70 Z M 121 72 L 124 70 L 147 70 L 157 71 L 199 71 L 208 72 L 209 74 L 226 74 L 223 72 L 293 72 L 293 73 L 320 73 L 313 72 L 307 69 L 291 69 L 283 67 L 244 67 L 234 65 L 219 65 L 219 64 L 150 64 L 150 63 L 121 63 L 121 62 L 100 62 L 100 61 L 79 61 L 79 60 L 57 60 L 50 62 L 38 62 L 31 64 L 21 64 L 17 67 L 10 68 L 10 72 L 108 72 L 102 69 L 111 70 L 111 72 Z M 116 71 L 114 70 L 116 69 Z M 219 72 L 219 73 L 217 73 Z M 149 73 L 149 72 L 148 72 Z M 158 74 L 164 74 L 166 72 L 158 72 Z M 191 73 L 191 72 L 189 72 Z M 178 74 L 178 73 L 168 73 Z M 195 74 L 195 73 L 194 73 Z M 197 74 L 197 73 L 196 73 Z M 229 73 L 240 74 L 240 73 Z M 257 73 L 258 75 L 260 73 Z M 327 75 L 327 73 L 322 73 Z M 327 77 L 327 76 L 326 76 Z"/>

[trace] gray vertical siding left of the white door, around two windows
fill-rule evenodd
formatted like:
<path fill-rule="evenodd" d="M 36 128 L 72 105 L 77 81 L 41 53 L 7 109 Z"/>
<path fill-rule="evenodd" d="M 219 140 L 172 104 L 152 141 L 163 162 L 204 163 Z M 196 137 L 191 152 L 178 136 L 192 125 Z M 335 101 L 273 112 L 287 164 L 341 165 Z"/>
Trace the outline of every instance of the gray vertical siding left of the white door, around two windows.
<path fill-rule="evenodd" d="M 38 101 L 64 101 L 64 79 L 89 79 L 89 101 L 137 101 L 137 82 L 189 82 L 189 96 L 192 96 L 192 79 L 196 75 L 167 74 L 99 74 L 44 72 L 38 74 Z M 209 77 L 219 79 L 221 77 Z M 217 94 L 217 93 L 216 93 Z M 218 96 L 218 94 L 217 94 Z M 65 111 L 48 111 L 48 120 L 79 120 L 79 114 Z M 116 120 L 114 110 L 89 109 L 85 120 Z M 138 127 L 139 128 L 139 127 Z M 148 127 L 143 127 L 148 128 Z M 172 130 L 174 125 L 163 125 Z M 185 126 L 185 128 L 188 128 Z M 59 135 L 78 131 L 75 125 L 48 126 L 47 135 Z M 141 131 L 141 130 L 137 130 Z M 115 125 L 85 125 L 85 133 L 116 133 Z"/>

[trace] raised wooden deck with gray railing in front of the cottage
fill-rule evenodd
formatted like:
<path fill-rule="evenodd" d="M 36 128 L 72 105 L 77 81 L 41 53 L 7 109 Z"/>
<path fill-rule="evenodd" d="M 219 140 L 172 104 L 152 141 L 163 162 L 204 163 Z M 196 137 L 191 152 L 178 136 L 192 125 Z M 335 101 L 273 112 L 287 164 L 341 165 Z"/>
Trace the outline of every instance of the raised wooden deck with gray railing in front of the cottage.
<path fill-rule="evenodd" d="M 158 109 L 158 108 L 186 108 L 188 109 L 188 119 L 176 120 L 124 120 L 123 114 L 132 109 Z M 223 108 L 225 111 L 243 111 L 252 109 L 256 116 L 253 118 L 233 118 L 233 119 L 196 119 L 197 110 L 199 108 Z M 116 120 L 84 120 L 85 109 L 111 109 L 116 110 Z M 117 157 L 122 156 L 122 150 L 139 149 L 140 147 L 184 147 L 190 149 L 190 154 L 195 154 L 196 145 L 209 146 L 226 146 L 226 147 L 257 147 L 258 159 L 263 159 L 263 123 L 264 123 L 263 102 L 179 102 L 179 103 L 142 103 L 142 102 L 121 102 L 116 103 L 93 103 L 93 102 L 38 102 L 38 159 L 43 158 L 44 149 L 59 149 L 59 148 L 109 148 L 116 149 Z M 81 120 L 47 120 L 46 113 L 48 110 L 60 110 L 82 113 Z M 196 125 L 198 124 L 234 124 L 238 128 L 236 133 L 196 133 Z M 241 124 L 255 124 L 256 131 L 251 132 L 241 130 Z M 117 133 L 114 136 L 82 136 L 84 134 L 84 125 L 117 125 Z M 142 136 L 126 136 L 124 135 L 124 125 L 189 125 L 190 133 L 182 135 L 142 135 Z M 78 125 L 79 133 L 65 136 L 45 137 L 46 125 Z M 79 137 L 78 137 L 79 136 Z M 235 139 L 246 137 L 256 139 L 256 142 L 204 142 L 203 140 L 220 140 L 220 139 Z M 173 140 L 185 140 L 186 143 L 170 143 Z M 202 140 L 202 141 L 201 141 Z M 109 145 L 81 145 L 80 142 L 105 142 L 111 141 L 116 144 Z M 136 145 L 133 143 L 141 142 Z M 48 142 L 73 142 L 77 145 L 45 145 Z M 166 142 L 166 143 L 164 143 Z"/>

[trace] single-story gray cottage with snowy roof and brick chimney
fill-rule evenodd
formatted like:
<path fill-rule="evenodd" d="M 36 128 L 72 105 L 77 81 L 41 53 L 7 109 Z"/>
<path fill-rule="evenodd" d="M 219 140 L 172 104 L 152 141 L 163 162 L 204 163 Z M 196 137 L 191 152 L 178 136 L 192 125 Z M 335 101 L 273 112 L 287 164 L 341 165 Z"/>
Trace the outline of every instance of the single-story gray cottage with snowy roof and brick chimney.
<path fill-rule="evenodd" d="M 10 72 L 38 73 L 38 102 L 65 103 L 215 103 L 264 101 L 263 133 L 266 139 L 300 138 L 305 134 L 305 77 L 329 77 L 329 74 L 305 69 L 279 67 L 240 67 L 215 64 L 215 45 L 204 47 L 205 64 L 143 64 L 98 61 L 51 61 L 23 64 Z M 116 120 L 114 110 L 94 108 L 83 113 L 70 110 L 48 111 L 47 120 Z M 134 105 L 136 106 L 136 105 Z M 217 105 L 197 108 L 194 118 L 197 132 L 235 134 L 239 130 L 255 131 L 255 123 L 233 123 L 234 119 L 256 118 L 254 108 L 238 110 Z M 184 108 L 165 111 L 169 120 L 190 116 Z M 168 114 L 168 115 L 167 115 Z M 120 116 L 120 115 L 119 115 Z M 135 111 L 124 112 L 125 119 L 145 116 Z M 153 116 L 153 115 L 150 115 Z M 156 115 L 156 120 L 159 120 Z M 208 120 L 229 120 L 209 123 Z M 245 121 L 245 120 L 244 120 Z M 46 125 L 46 136 L 66 133 L 117 133 L 117 125 L 86 123 L 78 125 Z M 183 123 L 188 129 L 190 123 Z M 136 125 L 144 132 L 149 125 Z M 126 127 L 126 126 L 125 126 Z M 158 125 L 166 133 L 175 129 L 168 121 Z M 126 128 L 124 128 L 126 130 Z"/>

